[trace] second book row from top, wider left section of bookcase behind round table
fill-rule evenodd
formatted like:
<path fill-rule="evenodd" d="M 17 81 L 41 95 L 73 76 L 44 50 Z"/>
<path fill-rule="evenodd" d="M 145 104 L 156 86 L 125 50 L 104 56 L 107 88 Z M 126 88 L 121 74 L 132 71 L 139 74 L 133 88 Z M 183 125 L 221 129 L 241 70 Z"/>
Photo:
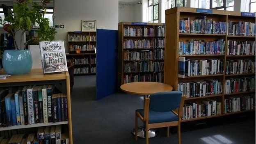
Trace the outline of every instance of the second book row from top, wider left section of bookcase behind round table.
<path fill-rule="evenodd" d="M 125 39 L 123 48 L 153 48 L 153 39 Z"/>

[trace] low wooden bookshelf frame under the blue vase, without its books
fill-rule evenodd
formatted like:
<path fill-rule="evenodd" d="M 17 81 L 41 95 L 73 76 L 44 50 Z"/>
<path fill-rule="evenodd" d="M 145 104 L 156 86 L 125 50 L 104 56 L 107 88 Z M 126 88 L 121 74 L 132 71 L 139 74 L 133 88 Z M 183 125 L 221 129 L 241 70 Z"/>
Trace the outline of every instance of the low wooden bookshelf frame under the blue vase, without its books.
<path fill-rule="evenodd" d="M 2 69 L 0 74 L 6 74 Z M 72 120 L 71 120 L 71 96 L 70 96 L 70 85 L 69 85 L 69 73 L 53 73 L 53 74 L 43 74 L 42 69 L 32 69 L 30 73 L 21 74 L 21 75 L 11 75 L 10 77 L 0 80 L 0 89 L 8 88 L 9 92 L 15 92 L 15 87 L 23 87 L 27 85 L 55 85 L 62 93 L 67 95 L 67 110 L 68 110 L 68 121 L 59 121 L 59 122 L 48 122 L 48 123 L 34 123 L 27 125 L 18 125 L 18 126 L 8 126 L 1 127 L 0 132 L 8 130 L 21 130 L 24 132 L 24 129 L 34 129 L 38 127 L 45 126 L 55 126 L 62 125 L 69 133 L 69 143 L 73 144 L 72 136 Z M 22 130 L 23 129 L 23 130 Z M 8 133 L 8 132 L 7 132 Z M 13 131 L 12 131 L 13 133 Z M 17 133 L 16 133 L 17 134 Z M 20 133 L 23 134 L 23 133 Z M 25 133 L 24 133 L 25 134 Z M 1 135 L 2 136 L 2 135 Z"/>

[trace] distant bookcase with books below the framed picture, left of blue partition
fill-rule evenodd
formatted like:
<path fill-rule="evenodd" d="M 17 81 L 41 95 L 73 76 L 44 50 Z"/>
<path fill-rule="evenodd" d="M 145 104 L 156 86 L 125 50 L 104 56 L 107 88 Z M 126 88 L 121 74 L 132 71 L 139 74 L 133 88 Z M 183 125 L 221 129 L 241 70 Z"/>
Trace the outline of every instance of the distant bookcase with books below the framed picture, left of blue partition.
<path fill-rule="evenodd" d="M 74 75 L 96 74 L 96 32 L 68 32 L 68 47 L 66 59 L 74 63 Z M 76 48 L 80 48 L 80 54 L 76 53 Z M 87 59 L 88 62 L 78 62 L 78 59 Z M 81 72 L 83 69 L 88 71 Z"/>

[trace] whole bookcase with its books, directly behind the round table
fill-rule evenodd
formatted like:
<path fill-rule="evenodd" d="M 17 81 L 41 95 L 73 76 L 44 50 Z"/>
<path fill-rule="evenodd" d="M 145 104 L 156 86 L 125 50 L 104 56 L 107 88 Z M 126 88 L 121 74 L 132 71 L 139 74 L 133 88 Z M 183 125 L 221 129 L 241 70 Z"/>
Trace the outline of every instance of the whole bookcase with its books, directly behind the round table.
<path fill-rule="evenodd" d="M 137 81 L 163 82 L 164 23 L 118 24 L 119 85 Z"/>

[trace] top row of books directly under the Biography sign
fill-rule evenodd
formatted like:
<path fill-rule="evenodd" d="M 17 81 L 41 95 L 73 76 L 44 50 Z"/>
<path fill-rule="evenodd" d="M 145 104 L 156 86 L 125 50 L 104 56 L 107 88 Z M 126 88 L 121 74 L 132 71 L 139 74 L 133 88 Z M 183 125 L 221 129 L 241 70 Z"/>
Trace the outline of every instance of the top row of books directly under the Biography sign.
<path fill-rule="evenodd" d="M 233 36 L 255 36 L 255 23 L 228 21 L 228 34 Z"/>

